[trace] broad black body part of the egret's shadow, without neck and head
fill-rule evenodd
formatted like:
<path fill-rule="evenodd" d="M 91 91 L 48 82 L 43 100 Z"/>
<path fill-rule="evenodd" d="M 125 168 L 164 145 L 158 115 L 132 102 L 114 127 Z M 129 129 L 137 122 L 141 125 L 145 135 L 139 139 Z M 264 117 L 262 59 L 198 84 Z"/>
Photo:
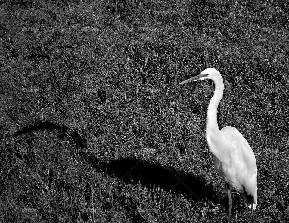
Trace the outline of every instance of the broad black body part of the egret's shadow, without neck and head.
<path fill-rule="evenodd" d="M 103 163 L 91 157 L 87 159 L 95 168 L 117 177 L 126 184 L 139 181 L 147 188 L 152 188 L 154 185 L 160 186 L 178 196 L 183 194 L 195 202 L 205 202 L 207 199 L 216 204 L 221 200 L 216 196 L 213 186 L 201 177 L 165 169 L 138 158 L 123 158 L 109 163 Z"/>

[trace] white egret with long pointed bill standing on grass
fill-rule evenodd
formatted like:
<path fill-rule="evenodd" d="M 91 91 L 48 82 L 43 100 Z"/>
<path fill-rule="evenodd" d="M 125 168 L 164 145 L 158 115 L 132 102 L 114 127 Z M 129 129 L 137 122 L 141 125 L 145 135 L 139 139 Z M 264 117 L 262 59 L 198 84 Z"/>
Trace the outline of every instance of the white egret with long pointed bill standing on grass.
<path fill-rule="evenodd" d="M 243 135 L 234 127 L 226 126 L 219 130 L 217 108 L 223 97 L 224 83 L 219 71 L 207 68 L 199 75 L 182 81 L 211 79 L 215 84 L 214 95 L 207 112 L 206 138 L 214 155 L 217 173 L 227 184 L 229 198 L 228 222 L 231 220 L 232 199 L 230 186 L 242 192 L 246 205 L 252 210 L 257 206 L 257 165 L 254 152 Z"/>

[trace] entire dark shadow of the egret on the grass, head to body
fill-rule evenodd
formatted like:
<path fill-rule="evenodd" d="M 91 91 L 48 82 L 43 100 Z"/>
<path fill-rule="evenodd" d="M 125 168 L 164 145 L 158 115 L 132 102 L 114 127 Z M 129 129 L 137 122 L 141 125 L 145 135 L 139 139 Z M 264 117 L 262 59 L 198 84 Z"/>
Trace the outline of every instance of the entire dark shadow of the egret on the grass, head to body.
<path fill-rule="evenodd" d="M 160 165 L 141 160 L 139 158 L 123 158 L 112 162 L 102 162 L 93 154 L 84 153 L 86 137 L 77 130 L 68 129 L 64 125 L 50 121 L 42 121 L 26 127 L 11 135 L 27 134 L 33 131 L 48 130 L 57 131 L 58 137 L 69 137 L 76 144 L 79 155 L 89 162 L 96 170 L 104 171 L 112 177 L 116 177 L 125 184 L 139 181 L 147 188 L 154 186 L 163 188 L 167 192 L 177 196 L 184 195 L 195 202 L 212 201 L 214 204 L 221 203 L 226 206 L 225 200 L 217 196 L 214 187 L 206 183 L 205 179 L 193 174 L 187 174 L 174 169 L 164 168 Z"/>

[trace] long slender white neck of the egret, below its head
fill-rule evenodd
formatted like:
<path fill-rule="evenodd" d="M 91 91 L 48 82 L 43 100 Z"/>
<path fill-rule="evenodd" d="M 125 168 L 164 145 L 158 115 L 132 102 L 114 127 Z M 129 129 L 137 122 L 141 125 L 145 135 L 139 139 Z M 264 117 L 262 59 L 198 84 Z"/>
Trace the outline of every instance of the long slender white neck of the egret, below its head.
<path fill-rule="evenodd" d="M 215 91 L 214 91 L 213 97 L 210 100 L 210 104 L 208 107 L 206 135 L 207 135 L 207 142 L 208 142 L 208 146 L 210 150 L 213 152 L 214 155 L 217 155 L 213 147 L 215 145 L 214 142 L 217 142 L 218 139 L 220 139 L 221 137 L 221 131 L 219 129 L 218 121 L 217 121 L 217 108 L 218 108 L 219 102 L 221 101 L 223 97 L 224 84 L 223 84 L 223 78 L 221 76 L 213 81 L 215 84 Z"/>

